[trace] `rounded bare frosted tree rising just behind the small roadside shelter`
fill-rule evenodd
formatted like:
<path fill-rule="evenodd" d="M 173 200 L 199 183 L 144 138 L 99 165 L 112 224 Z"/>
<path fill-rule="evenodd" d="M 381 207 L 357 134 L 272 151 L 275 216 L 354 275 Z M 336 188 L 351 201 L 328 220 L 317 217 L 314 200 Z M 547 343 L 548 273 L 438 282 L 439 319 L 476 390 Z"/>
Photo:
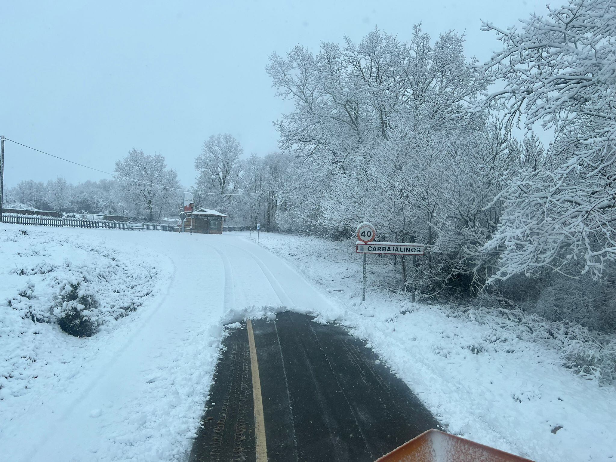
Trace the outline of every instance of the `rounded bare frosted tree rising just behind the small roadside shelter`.
<path fill-rule="evenodd" d="M 241 187 L 243 152 L 240 142 L 228 133 L 212 135 L 203 143 L 201 154 L 195 159 L 195 169 L 197 188 L 215 193 L 205 197 L 209 208 L 231 212 L 233 195 Z"/>

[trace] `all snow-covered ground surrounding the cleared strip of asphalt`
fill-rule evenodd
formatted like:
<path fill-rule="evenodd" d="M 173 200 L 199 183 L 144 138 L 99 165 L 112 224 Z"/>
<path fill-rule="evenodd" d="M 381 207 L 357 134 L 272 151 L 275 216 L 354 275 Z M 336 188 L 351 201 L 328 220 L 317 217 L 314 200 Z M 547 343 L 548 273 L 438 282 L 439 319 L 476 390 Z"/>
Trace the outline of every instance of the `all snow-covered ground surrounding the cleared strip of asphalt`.
<path fill-rule="evenodd" d="M 287 306 L 366 339 L 452 432 L 538 461 L 613 460 L 616 392 L 549 343 L 386 291 L 362 304 L 349 243 L 253 240 L 0 225 L 0 458 L 182 460 L 222 325 Z M 98 301 L 90 338 L 49 310 L 78 278 Z"/>

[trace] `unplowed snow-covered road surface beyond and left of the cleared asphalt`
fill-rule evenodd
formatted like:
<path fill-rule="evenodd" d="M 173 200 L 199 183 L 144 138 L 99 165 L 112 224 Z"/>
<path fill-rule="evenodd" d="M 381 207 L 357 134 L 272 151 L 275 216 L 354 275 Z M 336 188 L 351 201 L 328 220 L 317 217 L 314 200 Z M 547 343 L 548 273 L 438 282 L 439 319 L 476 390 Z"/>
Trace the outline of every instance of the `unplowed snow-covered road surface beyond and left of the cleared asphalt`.
<path fill-rule="evenodd" d="M 169 277 L 130 322 L 86 340 L 67 386 L 23 399 L 0 436 L 4 460 L 182 458 L 211 383 L 221 318 L 233 321 L 251 306 L 327 303 L 285 262 L 234 235 L 56 231 L 159 253 Z"/>

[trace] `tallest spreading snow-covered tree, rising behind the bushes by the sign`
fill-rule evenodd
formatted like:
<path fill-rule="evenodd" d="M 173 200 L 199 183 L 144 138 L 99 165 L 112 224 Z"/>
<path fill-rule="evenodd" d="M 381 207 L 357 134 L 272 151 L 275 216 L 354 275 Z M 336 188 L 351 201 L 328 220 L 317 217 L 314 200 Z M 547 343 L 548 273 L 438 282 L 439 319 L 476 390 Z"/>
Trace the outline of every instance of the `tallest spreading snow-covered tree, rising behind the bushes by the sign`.
<path fill-rule="evenodd" d="M 281 216 L 286 225 L 304 220 L 304 228 L 320 229 L 330 187 L 363 181 L 363 169 L 400 115 L 445 127 L 464 113 L 487 78 L 469 66 L 474 59 L 466 62 L 463 42 L 449 32 L 432 44 L 415 26 L 409 43 L 375 29 L 359 44 L 324 43 L 317 55 L 300 46 L 272 55 L 266 70 L 277 94 L 295 104 L 277 123 L 279 145 L 300 169 L 287 192 L 286 218 L 296 217 Z M 471 114 L 466 124 L 480 126 L 483 118 Z"/>

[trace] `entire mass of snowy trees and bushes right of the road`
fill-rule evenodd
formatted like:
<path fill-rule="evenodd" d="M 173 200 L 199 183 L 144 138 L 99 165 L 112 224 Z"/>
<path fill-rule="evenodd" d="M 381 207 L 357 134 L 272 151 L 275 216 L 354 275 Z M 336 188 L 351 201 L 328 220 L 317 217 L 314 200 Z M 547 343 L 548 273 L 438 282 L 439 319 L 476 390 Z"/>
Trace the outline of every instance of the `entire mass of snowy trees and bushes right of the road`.
<path fill-rule="evenodd" d="M 420 25 L 272 55 L 294 103 L 277 123 L 291 155 L 277 230 L 348 243 L 369 221 L 378 240 L 424 243 L 415 264 L 377 260 L 392 294 L 534 325 L 573 371 L 612 380 L 614 8 L 484 22 L 500 41 L 485 63 Z"/>

